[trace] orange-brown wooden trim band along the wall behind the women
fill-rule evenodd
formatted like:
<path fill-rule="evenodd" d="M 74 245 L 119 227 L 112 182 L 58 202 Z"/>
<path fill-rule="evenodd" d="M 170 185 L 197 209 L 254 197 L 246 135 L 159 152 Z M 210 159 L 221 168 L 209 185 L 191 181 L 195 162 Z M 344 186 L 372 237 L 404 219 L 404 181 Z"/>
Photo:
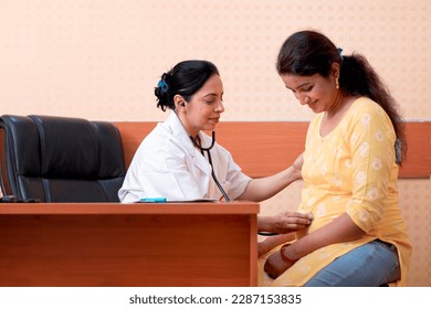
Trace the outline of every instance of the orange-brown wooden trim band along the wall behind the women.
<path fill-rule="evenodd" d="M 140 141 L 157 125 L 154 121 L 115 122 L 125 151 L 126 164 Z M 288 167 L 303 151 L 307 121 L 227 121 L 217 126 L 216 139 L 253 178 L 273 174 Z M 406 122 L 409 142 L 407 160 L 399 177 L 429 179 L 431 175 L 431 121 Z"/>

